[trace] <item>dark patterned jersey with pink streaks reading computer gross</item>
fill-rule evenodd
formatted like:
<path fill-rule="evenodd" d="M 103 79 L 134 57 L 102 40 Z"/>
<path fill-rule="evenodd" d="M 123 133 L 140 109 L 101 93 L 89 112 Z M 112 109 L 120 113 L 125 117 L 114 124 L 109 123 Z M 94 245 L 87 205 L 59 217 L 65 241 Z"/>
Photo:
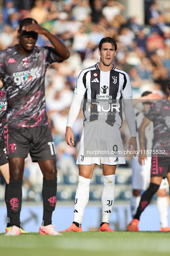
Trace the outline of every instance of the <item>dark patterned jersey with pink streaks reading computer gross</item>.
<path fill-rule="evenodd" d="M 7 123 L 18 127 L 47 125 L 44 78 L 57 62 L 52 47 L 34 47 L 27 55 L 15 46 L 0 53 L 0 73 L 7 91 Z"/>

